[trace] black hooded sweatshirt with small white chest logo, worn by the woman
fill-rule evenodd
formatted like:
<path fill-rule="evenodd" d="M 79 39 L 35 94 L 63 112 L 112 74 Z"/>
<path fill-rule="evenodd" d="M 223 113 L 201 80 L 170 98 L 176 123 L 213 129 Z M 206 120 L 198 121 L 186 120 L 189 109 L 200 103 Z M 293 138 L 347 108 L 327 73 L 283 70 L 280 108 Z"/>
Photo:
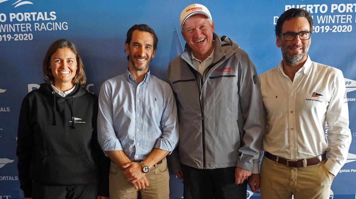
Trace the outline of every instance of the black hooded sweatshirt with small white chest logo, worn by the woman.
<path fill-rule="evenodd" d="M 64 98 L 50 84 L 26 95 L 16 151 L 25 198 L 31 197 L 33 180 L 46 185 L 99 182 L 98 195 L 109 195 L 110 159 L 97 141 L 97 114 L 98 99 L 79 85 Z"/>

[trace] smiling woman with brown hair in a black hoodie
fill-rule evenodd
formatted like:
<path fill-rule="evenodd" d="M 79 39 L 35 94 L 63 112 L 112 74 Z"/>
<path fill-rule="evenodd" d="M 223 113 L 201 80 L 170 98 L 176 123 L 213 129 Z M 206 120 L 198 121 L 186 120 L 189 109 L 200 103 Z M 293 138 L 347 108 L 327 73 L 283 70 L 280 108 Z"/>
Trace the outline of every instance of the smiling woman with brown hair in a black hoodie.
<path fill-rule="evenodd" d="M 17 138 L 25 199 L 105 199 L 110 160 L 97 141 L 98 99 L 77 47 L 57 40 L 42 64 L 46 83 L 23 99 Z"/>

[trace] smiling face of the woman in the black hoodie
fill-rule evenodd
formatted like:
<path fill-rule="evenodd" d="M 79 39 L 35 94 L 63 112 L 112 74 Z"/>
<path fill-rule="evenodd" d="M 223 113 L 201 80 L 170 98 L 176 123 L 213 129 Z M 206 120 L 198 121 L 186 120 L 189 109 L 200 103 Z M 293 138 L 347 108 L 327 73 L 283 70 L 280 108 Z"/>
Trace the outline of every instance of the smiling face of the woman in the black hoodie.
<path fill-rule="evenodd" d="M 54 77 L 54 86 L 66 84 L 71 85 L 77 71 L 77 59 L 70 48 L 58 48 L 51 56 L 51 72 Z"/>

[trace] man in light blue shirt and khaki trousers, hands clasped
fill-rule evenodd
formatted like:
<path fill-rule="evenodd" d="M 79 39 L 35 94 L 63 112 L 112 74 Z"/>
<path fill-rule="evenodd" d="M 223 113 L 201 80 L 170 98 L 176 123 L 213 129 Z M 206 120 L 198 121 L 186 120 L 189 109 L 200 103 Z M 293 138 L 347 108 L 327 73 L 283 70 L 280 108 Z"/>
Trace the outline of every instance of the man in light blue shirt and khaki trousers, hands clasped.
<path fill-rule="evenodd" d="M 98 141 L 111 159 L 111 199 L 169 198 L 166 155 L 178 142 L 177 108 L 169 84 L 150 74 L 158 38 L 145 24 L 127 32 L 126 73 L 100 88 Z M 148 187 L 148 185 L 150 185 Z"/>

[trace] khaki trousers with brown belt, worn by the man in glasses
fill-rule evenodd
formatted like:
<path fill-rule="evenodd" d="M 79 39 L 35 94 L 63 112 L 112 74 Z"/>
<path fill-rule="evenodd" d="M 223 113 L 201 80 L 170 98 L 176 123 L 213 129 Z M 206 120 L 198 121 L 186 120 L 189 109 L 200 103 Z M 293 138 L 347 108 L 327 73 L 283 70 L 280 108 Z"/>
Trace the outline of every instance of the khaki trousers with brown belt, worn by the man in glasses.
<path fill-rule="evenodd" d="M 287 167 L 263 157 L 261 199 L 329 199 L 331 177 L 325 161 L 305 168 Z"/>

